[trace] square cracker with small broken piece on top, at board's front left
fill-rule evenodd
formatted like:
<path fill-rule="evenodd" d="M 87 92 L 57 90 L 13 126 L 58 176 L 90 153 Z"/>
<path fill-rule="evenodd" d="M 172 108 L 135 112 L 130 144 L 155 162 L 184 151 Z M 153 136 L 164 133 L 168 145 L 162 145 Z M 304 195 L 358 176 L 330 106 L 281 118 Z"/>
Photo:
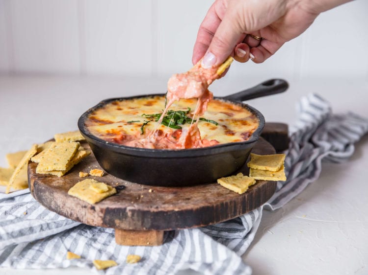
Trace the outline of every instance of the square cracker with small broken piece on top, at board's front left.
<path fill-rule="evenodd" d="M 103 199 L 116 194 L 116 189 L 114 187 L 111 187 L 110 185 L 107 185 L 108 191 L 103 193 L 95 192 L 94 190 L 90 189 L 90 186 L 93 183 L 99 183 L 94 179 L 85 179 L 79 183 L 76 183 L 72 188 L 69 189 L 68 194 L 74 197 L 77 197 L 78 199 L 85 201 L 89 204 L 95 204 Z"/>

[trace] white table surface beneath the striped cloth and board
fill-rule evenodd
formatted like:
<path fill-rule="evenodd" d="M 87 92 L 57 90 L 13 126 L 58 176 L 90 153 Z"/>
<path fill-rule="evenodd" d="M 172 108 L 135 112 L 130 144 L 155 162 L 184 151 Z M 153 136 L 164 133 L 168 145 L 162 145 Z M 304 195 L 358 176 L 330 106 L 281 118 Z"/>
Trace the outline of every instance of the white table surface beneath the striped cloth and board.
<path fill-rule="evenodd" d="M 109 97 L 164 92 L 166 79 L 136 77 L 0 77 L 0 166 L 5 154 L 26 150 L 53 134 L 77 129 L 89 107 Z M 263 79 L 264 80 L 264 79 Z M 243 83 L 247 83 L 244 85 Z M 212 91 L 221 96 L 249 88 L 257 80 L 225 77 Z M 248 103 L 266 121 L 292 124 L 295 102 L 317 92 L 335 113 L 354 111 L 368 117 L 368 83 L 343 78 L 289 81 L 289 91 Z M 368 274 L 368 136 L 356 144 L 346 163 L 323 163 L 320 178 L 283 208 L 263 211 L 250 249 L 243 255 L 255 275 Z M 2 189 L 3 190 L 3 189 Z M 0 190 L 1 191 L 1 190 Z M 28 275 L 87 275 L 81 268 L 27 270 Z M 3 268 L 4 275 L 25 270 Z M 180 275 L 197 274 L 181 271 Z"/>

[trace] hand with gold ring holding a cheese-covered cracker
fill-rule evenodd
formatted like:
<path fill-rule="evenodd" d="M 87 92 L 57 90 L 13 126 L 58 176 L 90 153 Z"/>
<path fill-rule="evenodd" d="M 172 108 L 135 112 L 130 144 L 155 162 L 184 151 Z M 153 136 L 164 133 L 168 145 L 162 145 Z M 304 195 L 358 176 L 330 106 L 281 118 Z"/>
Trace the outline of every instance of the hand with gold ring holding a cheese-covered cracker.
<path fill-rule="evenodd" d="M 347 1 L 215 0 L 199 27 L 192 62 L 206 54 L 205 68 L 221 64 L 229 55 L 239 62 L 251 58 L 262 63 L 303 33 L 319 13 Z"/>

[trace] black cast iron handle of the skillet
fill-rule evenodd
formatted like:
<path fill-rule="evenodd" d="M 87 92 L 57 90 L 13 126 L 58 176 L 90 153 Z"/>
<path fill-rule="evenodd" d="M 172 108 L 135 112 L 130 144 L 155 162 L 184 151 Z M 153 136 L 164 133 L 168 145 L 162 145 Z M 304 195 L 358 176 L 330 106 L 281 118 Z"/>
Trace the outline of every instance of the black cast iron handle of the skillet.
<path fill-rule="evenodd" d="M 233 93 L 223 97 L 224 99 L 231 101 L 245 101 L 252 98 L 262 97 L 275 93 L 285 92 L 288 90 L 289 84 L 284 79 L 270 79 L 249 88 L 247 90 Z"/>

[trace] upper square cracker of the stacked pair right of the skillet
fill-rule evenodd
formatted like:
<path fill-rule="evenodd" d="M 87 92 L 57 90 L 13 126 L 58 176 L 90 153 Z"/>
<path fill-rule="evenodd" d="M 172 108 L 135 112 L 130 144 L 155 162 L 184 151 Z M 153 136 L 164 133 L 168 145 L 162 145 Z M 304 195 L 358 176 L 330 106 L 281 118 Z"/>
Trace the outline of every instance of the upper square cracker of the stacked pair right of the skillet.
<path fill-rule="evenodd" d="M 274 155 L 256 155 L 250 154 L 250 161 L 247 163 L 249 168 L 267 170 L 267 171 L 279 171 L 281 166 L 284 165 L 285 154 Z"/>

